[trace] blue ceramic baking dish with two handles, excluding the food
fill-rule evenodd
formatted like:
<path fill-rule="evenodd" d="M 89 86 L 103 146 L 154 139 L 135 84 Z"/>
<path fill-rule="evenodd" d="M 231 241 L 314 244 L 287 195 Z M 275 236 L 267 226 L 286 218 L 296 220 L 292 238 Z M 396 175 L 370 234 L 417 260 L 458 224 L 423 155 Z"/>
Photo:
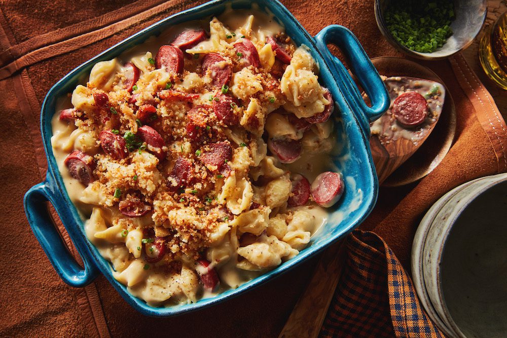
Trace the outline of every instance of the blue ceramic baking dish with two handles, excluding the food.
<path fill-rule="evenodd" d="M 127 288 L 116 281 L 112 268 L 87 240 L 84 222 L 76 207 L 71 203 L 51 147 L 51 118 L 55 114 L 59 97 L 72 92 L 87 78 L 92 66 L 103 60 L 110 60 L 122 52 L 142 44 L 150 36 L 159 35 L 172 25 L 190 20 L 218 16 L 227 9 L 252 9 L 272 15 L 286 33 L 299 45 L 306 45 L 320 67 L 320 83 L 328 87 L 335 99 L 335 119 L 337 121 L 337 140 L 340 143 L 339 154 L 334 162 L 345 178 L 346 189 L 340 203 L 330 210 L 328 223 L 311 239 L 308 246 L 296 257 L 259 276 L 236 289 L 229 289 L 211 298 L 200 299 L 193 304 L 154 308 L 132 296 Z M 340 48 L 347 58 L 352 72 L 365 89 L 372 105 L 365 104 L 347 69 L 338 58 L 333 56 L 327 44 Z M 24 207 L 30 227 L 58 275 L 67 284 L 82 287 L 102 273 L 118 290 L 123 298 L 144 315 L 168 317 L 191 312 L 203 307 L 224 302 L 248 289 L 264 283 L 273 277 L 298 265 L 315 255 L 331 243 L 342 238 L 356 228 L 373 209 L 377 194 L 378 180 L 369 148 L 369 123 L 377 119 L 389 106 L 389 96 L 378 72 L 360 46 L 356 37 L 347 28 L 330 25 L 312 37 L 296 18 L 276 0 L 215 0 L 195 8 L 174 14 L 152 26 L 128 37 L 119 44 L 105 50 L 96 57 L 83 63 L 58 81 L 46 95 L 41 111 L 41 131 L 48 160 L 46 180 L 34 185 L 24 197 Z M 81 268 L 68 252 L 58 230 L 54 227 L 46 207 L 46 201 L 53 204 L 65 229 L 78 249 L 84 268 Z"/>

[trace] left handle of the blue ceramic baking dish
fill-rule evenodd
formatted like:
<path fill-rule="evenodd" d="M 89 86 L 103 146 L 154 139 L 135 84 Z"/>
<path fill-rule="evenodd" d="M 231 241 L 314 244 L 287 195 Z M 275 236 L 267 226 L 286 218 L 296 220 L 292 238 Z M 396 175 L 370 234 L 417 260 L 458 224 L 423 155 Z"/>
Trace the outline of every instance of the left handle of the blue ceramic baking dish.
<path fill-rule="evenodd" d="M 65 229 L 69 230 L 67 227 L 69 220 L 65 218 L 68 216 L 62 213 L 63 210 L 58 210 L 58 204 L 55 203 L 54 199 L 54 192 L 50 189 L 51 186 L 51 184 L 48 184 L 48 181 L 45 181 L 32 186 L 31 189 L 26 192 L 24 207 L 28 223 L 61 279 L 70 286 L 86 286 L 97 276 L 97 267 L 88 258 L 88 248 L 83 238 L 79 236 L 79 233 L 68 231 L 70 239 L 73 241 L 83 259 L 84 269 L 78 265 L 74 257 L 68 251 L 47 208 L 46 201 L 49 201 L 58 212 Z M 72 226 L 74 226 L 74 224 L 72 224 Z M 73 234 L 75 236 L 73 236 Z"/>

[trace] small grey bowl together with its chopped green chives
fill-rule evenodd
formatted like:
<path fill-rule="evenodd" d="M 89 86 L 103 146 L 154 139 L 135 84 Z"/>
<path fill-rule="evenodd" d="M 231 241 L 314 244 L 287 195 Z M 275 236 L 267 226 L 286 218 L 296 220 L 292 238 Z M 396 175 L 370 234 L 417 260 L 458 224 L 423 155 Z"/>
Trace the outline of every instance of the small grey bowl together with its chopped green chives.
<path fill-rule="evenodd" d="M 384 37 L 419 59 L 443 59 L 468 47 L 486 12 L 486 0 L 375 0 L 375 18 Z"/>

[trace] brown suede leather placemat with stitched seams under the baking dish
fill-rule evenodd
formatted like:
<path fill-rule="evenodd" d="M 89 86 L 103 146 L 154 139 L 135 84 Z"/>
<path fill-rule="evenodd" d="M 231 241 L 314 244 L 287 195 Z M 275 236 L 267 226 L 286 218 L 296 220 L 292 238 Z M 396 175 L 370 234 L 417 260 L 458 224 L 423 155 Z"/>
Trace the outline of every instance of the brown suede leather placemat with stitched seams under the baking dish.
<path fill-rule="evenodd" d="M 23 194 L 42 181 L 45 173 L 39 115 L 50 87 L 98 52 L 199 3 L 0 2 L 0 211 L 4 215 L 0 336 L 274 336 L 283 327 L 316 258 L 224 304 L 176 318 L 149 318 L 130 308 L 102 276 L 83 289 L 65 285 L 24 215 Z M 378 31 L 371 0 L 283 3 L 311 34 L 338 23 L 357 35 L 371 57 L 399 56 Z M 463 181 L 506 169 L 505 125 L 462 57 L 425 65 L 449 79 L 446 84 L 458 114 L 456 142 L 439 167 L 419 184 L 382 189 L 375 212 L 363 225 L 376 228 L 405 264 L 418 219 L 434 200 Z"/>

